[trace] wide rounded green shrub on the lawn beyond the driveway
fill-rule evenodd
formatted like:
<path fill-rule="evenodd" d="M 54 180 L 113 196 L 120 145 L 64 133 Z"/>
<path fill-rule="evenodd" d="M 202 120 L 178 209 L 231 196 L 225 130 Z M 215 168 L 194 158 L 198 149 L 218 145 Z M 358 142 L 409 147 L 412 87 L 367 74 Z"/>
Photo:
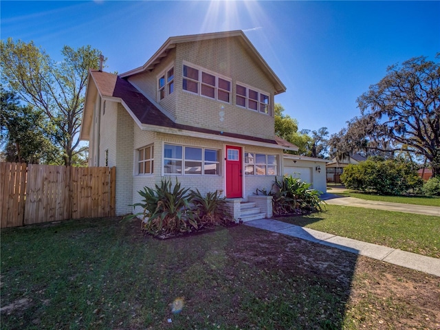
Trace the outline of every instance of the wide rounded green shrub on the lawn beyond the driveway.
<path fill-rule="evenodd" d="M 377 192 L 380 195 L 402 195 L 421 188 L 417 164 L 404 159 L 382 160 L 377 157 L 344 168 L 341 181 L 349 189 Z"/>

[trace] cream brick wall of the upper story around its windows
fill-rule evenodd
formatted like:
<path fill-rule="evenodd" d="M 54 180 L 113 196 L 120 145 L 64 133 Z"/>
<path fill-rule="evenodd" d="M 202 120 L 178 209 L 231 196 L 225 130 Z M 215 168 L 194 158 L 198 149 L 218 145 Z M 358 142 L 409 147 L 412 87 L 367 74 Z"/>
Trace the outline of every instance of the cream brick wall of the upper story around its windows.
<path fill-rule="evenodd" d="M 230 104 L 182 91 L 184 61 L 232 79 Z M 236 82 L 239 82 L 265 91 L 270 95 L 272 112 L 274 106 L 274 85 L 259 63 L 250 58 L 237 37 L 179 43 L 152 72 L 137 74 L 129 80 L 157 100 L 157 76 L 173 62 L 175 91 L 159 104 L 175 117 L 177 123 L 256 137 L 274 137 L 273 113 L 265 115 L 235 105 Z M 223 121 L 220 120 L 220 111 L 224 112 Z"/>

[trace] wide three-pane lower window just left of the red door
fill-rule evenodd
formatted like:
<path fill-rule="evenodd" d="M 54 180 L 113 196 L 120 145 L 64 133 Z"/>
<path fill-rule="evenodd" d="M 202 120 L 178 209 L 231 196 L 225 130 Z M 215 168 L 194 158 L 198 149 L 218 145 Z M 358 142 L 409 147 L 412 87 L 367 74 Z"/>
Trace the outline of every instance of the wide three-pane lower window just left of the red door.
<path fill-rule="evenodd" d="M 194 146 L 164 146 L 164 174 L 219 175 L 220 151 Z"/>

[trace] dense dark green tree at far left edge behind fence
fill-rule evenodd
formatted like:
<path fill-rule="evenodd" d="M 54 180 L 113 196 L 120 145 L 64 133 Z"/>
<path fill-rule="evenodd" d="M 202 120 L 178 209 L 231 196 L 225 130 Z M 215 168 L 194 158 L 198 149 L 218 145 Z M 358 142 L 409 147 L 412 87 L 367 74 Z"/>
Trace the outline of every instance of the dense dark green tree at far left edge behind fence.
<path fill-rule="evenodd" d="M 13 91 L 0 87 L 0 142 L 6 162 L 31 164 L 56 161 L 57 150 L 50 141 L 50 124 L 43 111 L 23 107 Z"/>

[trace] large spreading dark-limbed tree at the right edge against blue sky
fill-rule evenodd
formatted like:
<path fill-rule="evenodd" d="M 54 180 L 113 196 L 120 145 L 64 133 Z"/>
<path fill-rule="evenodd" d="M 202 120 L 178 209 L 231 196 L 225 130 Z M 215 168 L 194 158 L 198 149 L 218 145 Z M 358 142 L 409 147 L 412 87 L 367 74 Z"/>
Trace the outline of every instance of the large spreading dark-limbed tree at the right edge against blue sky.
<path fill-rule="evenodd" d="M 426 157 L 440 175 L 440 63 L 420 56 L 388 67 L 358 107 L 362 115 L 331 136 L 331 154 L 405 152 Z"/>

